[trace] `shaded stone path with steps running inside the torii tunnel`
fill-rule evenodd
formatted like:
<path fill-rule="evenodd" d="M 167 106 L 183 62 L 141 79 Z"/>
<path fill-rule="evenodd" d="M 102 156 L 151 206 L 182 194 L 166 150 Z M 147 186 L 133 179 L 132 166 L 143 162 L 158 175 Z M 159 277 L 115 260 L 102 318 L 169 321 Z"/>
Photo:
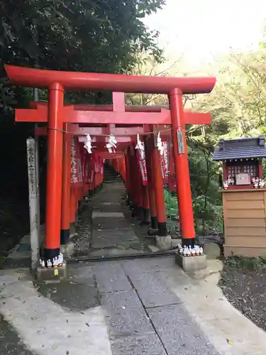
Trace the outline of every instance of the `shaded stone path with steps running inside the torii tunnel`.
<path fill-rule="evenodd" d="M 74 239 L 77 256 L 121 256 L 149 251 L 145 249 L 145 244 L 150 244 L 150 241 L 145 243 L 133 230 L 132 222 L 140 221 L 125 217 L 126 206 L 122 206 L 124 192 L 119 179 L 104 183 L 90 200 L 92 215 L 89 215 L 89 207 L 82 207 L 78 236 Z"/>

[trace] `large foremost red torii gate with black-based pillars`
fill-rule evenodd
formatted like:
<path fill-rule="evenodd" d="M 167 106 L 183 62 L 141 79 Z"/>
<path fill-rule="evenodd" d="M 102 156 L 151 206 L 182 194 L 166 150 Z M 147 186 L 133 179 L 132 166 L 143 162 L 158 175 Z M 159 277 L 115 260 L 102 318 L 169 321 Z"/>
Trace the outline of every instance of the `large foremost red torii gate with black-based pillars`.
<path fill-rule="evenodd" d="M 62 147 L 65 123 L 83 124 L 135 124 L 135 125 L 172 125 L 172 145 L 174 167 L 177 178 L 179 202 L 179 221 L 182 230 L 182 242 L 194 245 L 194 218 L 185 143 L 184 109 L 182 94 L 209 93 L 214 88 L 214 77 L 145 77 L 133 75 L 95 74 L 84 72 L 59 72 L 37 70 L 25 67 L 5 66 L 7 75 L 13 84 L 26 87 L 45 88 L 49 91 L 48 107 L 40 105 L 37 109 L 16 110 L 16 121 L 48 122 L 48 176 L 46 201 L 46 260 L 60 253 L 60 220 L 62 197 Z M 64 107 L 64 91 L 108 90 L 111 92 L 137 92 L 168 94 L 169 111 L 134 112 L 112 107 L 113 111 L 87 112 Z M 41 113 L 43 111 L 43 114 Z M 39 119 L 42 118 L 42 120 Z M 196 122 L 189 122 L 195 123 Z"/>

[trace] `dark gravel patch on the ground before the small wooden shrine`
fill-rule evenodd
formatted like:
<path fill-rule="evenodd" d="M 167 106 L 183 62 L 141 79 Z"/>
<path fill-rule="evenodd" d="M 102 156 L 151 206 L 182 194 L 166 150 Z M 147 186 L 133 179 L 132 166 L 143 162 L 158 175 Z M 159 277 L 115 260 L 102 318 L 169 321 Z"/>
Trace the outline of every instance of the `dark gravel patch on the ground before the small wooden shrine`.
<path fill-rule="evenodd" d="M 228 258 L 219 282 L 232 305 L 266 331 L 266 260 Z"/>

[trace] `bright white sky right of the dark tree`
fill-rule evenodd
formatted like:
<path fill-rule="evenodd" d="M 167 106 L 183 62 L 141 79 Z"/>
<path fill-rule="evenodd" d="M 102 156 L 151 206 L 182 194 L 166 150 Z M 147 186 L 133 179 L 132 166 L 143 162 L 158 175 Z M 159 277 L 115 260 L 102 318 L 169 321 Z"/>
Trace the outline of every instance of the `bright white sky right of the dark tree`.
<path fill-rule="evenodd" d="M 266 0 L 166 0 L 145 23 L 160 31 L 159 44 L 184 55 L 191 69 L 233 49 L 255 47 L 266 24 Z"/>

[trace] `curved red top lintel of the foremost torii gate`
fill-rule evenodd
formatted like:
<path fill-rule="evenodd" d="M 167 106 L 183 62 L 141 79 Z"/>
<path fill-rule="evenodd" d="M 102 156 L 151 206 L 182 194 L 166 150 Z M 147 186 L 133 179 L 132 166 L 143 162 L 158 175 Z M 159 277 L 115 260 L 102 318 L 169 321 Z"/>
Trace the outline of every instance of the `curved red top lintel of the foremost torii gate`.
<path fill-rule="evenodd" d="M 60 72 L 5 65 L 6 74 L 13 84 L 25 87 L 48 88 L 58 82 L 64 89 L 110 92 L 140 92 L 168 94 L 179 87 L 183 94 L 209 93 L 215 77 L 150 77 L 140 75 L 102 74 L 89 72 Z"/>

